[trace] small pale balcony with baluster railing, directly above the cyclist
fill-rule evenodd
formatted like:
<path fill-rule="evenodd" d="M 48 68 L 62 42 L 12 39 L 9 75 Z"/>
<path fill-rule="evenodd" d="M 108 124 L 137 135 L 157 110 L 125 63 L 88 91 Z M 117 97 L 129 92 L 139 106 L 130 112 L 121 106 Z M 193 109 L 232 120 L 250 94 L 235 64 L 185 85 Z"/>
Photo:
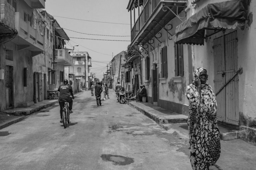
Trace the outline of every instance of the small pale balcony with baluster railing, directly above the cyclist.
<path fill-rule="evenodd" d="M 65 66 L 72 65 L 73 58 L 68 53 L 67 49 L 55 49 L 55 62 Z"/>

